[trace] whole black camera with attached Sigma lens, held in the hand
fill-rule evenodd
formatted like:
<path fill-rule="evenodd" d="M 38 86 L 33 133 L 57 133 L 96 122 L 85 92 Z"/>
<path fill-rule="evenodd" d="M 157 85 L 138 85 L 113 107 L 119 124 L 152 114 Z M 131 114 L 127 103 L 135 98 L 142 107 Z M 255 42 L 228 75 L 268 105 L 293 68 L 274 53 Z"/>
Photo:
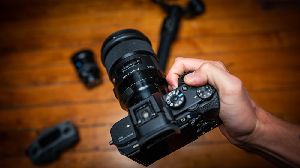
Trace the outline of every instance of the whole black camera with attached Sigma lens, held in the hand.
<path fill-rule="evenodd" d="M 169 92 L 143 33 L 117 31 L 104 41 L 101 52 L 114 93 L 129 114 L 110 130 L 110 144 L 122 155 L 149 166 L 222 123 L 218 93 L 211 85 L 188 86 L 184 73 L 179 87 Z"/>

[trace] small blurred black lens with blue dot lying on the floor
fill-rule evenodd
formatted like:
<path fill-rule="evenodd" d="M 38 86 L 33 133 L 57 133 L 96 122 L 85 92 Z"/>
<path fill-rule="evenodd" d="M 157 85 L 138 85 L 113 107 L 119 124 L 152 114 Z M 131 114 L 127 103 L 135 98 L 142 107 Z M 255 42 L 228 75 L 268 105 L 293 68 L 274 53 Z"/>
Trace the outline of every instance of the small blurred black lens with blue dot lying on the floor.
<path fill-rule="evenodd" d="M 77 73 L 88 88 L 101 83 L 99 68 L 94 60 L 94 54 L 90 50 L 82 50 L 72 56 Z"/>

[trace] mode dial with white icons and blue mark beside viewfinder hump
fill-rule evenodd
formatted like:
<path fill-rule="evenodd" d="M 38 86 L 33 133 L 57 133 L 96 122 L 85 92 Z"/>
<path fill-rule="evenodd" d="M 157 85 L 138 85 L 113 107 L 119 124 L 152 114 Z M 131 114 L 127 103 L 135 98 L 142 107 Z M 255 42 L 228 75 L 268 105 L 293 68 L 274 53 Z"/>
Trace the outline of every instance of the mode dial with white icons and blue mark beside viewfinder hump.
<path fill-rule="evenodd" d="M 182 107 L 184 101 L 184 94 L 179 90 L 171 91 L 166 97 L 167 104 L 172 108 Z"/>

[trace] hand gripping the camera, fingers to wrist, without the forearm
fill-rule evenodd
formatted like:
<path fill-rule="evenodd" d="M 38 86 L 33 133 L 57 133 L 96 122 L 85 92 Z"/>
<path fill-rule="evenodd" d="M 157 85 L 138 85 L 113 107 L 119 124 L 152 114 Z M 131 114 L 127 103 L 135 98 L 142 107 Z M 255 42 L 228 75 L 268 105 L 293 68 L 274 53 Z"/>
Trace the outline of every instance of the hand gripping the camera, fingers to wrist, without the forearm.
<path fill-rule="evenodd" d="M 211 84 L 219 93 L 220 113 L 223 121 L 220 131 L 234 145 L 242 148 L 242 142 L 251 139 L 256 133 L 259 107 L 250 98 L 243 83 L 231 75 L 224 64 L 191 58 L 176 58 L 167 75 L 169 89 L 178 87 L 178 78 L 184 72 L 194 71 L 184 77 L 190 86 Z"/>

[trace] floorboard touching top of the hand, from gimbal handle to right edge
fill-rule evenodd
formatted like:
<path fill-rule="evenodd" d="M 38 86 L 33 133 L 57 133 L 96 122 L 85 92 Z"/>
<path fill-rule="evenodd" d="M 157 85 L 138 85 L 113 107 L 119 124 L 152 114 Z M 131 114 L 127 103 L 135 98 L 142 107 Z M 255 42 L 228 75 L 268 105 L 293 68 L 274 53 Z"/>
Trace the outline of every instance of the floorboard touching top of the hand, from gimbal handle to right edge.
<path fill-rule="evenodd" d="M 167 70 L 171 68 L 175 59 L 179 56 L 185 58 L 198 58 L 221 61 L 230 73 L 241 71 L 252 72 L 259 70 L 284 70 L 298 69 L 300 66 L 300 50 L 297 48 L 270 49 L 270 50 L 243 50 L 230 52 L 211 52 L 194 54 L 170 55 Z"/>

